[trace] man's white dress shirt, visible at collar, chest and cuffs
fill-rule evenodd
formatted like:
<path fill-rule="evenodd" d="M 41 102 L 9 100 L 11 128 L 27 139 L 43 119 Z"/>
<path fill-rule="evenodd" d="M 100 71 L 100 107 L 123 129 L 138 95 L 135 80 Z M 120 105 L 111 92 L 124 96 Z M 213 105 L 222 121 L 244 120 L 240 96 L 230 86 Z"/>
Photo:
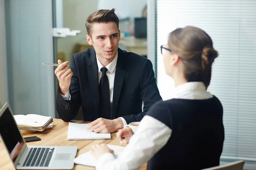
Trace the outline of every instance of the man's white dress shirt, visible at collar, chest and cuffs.
<path fill-rule="evenodd" d="M 102 63 L 99 61 L 98 57 L 97 57 L 97 54 L 96 54 L 96 58 L 97 58 L 97 65 L 98 65 L 98 69 L 99 69 L 99 72 L 98 72 L 98 78 L 99 78 L 99 82 L 100 82 L 100 79 L 101 79 L 101 76 L 102 76 L 102 72 L 100 71 L 100 69 L 102 67 L 104 67 L 102 65 Z M 112 102 L 113 102 L 113 89 L 114 89 L 114 80 L 115 80 L 115 74 L 116 74 L 116 62 L 117 62 L 117 58 L 118 58 L 118 54 L 116 52 L 116 57 L 113 59 L 113 61 L 111 61 L 111 63 L 109 63 L 106 68 L 108 69 L 108 71 L 106 72 L 106 75 L 108 77 L 108 83 L 109 83 L 109 94 L 110 94 L 110 110 L 112 111 Z M 71 99 L 71 96 L 70 96 L 70 92 L 68 91 L 67 94 L 65 94 L 65 96 L 61 95 L 62 98 L 64 100 L 70 100 Z M 127 125 L 126 121 L 124 118 L 122 117 L 119 117 L 120 119 L 122 119 L 122 122 L 125 125 Z"/>

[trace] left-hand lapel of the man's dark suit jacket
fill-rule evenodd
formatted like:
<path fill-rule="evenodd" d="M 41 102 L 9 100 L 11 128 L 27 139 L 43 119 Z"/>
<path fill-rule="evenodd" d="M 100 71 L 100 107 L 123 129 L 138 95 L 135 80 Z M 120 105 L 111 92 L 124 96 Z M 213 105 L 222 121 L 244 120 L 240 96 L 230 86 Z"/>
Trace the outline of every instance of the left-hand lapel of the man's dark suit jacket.
<path fill-rule="evenodd" d="M 88 65 L 88 74 L 90 81 L 90 88 L 93 94 L 94 104 L 97 110 L 97 117 L 99 117 L 99 79 L 98 79 L 98 65 L 96 61 L 96 53 L 92 52 L 90 56 L 90 64 Z"/>

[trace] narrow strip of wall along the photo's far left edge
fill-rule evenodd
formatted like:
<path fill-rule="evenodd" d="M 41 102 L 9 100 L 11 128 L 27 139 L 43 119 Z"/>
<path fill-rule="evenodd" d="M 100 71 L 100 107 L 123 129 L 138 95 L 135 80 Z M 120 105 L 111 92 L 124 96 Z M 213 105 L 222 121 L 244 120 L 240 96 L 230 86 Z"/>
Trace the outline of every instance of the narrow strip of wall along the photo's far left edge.
<path fill-rule="evenodd" d="M 6 102 L 5 60 L 3 58 L 3 2 L 0 0 L 0 100 Z"/>

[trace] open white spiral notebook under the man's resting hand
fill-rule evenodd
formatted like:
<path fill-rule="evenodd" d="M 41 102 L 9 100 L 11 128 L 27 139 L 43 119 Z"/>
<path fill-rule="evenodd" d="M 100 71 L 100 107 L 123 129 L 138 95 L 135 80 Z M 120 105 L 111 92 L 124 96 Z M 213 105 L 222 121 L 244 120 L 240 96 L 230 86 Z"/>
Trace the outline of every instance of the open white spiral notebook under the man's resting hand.
<path fill-rule="evenodd" d="M 88 124 L 69 122 L 67 140 L 111 139 L 110 133 L 95 133 L 87 130 L 87 126 Z"/>

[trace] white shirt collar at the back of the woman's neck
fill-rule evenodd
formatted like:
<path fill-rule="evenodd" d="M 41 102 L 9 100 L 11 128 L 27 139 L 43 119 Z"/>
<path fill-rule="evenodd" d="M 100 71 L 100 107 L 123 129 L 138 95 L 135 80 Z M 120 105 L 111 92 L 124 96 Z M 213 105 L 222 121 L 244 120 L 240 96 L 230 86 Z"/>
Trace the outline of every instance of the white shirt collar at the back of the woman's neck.
<path fill-rule="evenodd" d="M 212 94 L 206 91 L 203 82 L 186 82 L 175 88 L 174 97 L 176 99 L 210 99 Z"/>

